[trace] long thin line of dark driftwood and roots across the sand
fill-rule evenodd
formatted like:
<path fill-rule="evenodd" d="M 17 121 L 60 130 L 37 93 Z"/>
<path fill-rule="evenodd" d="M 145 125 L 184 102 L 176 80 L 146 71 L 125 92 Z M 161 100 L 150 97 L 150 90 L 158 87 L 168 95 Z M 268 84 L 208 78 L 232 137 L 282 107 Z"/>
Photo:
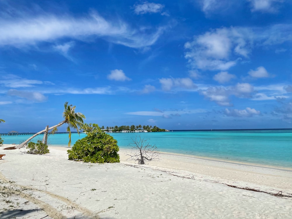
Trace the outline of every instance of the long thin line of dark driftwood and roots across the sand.
<path fill-rule="evenodd" d="M 139 166 L 130 165 L 130 164 L 125 164 L 125 165 L 132 166 L 132 167 L 135 167 L 135 168 L 141 168 Z M 151 167 L 143 167 L 143 168 L 151 169 Z M 180 178 L 191 179 L 191 180 L 199 180 L 199 179 L 196 179 L 195 176 L 191 176 L 191 175 L 181 176 L 181 175 L 178 175 L 178 173 L 176 173 L 176 172 L 171 172 L 171 171 L 166 171 L 166 170 L 160 170 L 160 169 L 157 169 L 157 170 L 162 171 L 164 173 L 168 173 L 168 174 L 173 175 L 173 176 L 180 177 Z M 287 192 L 283 192 L 283 191 L 278 191 L 278 190 L 274 190 L 274 189 L 273 190 L 275 192 L 267 192 L 267 191 L 264 191 L 264 190 L 253 189 L 253 188 L 250 188 L 250 187 L 240 187 L 240 186 L 230 185 L 230 184 L 227 184 L 227 183 L 222 183 L 221 181 L 208 180 L 208 179 L 204 179 L 203 181 L 209 181 L 209 182 L 213 182 L 213 183 L 220 183 L 220 184 L 223 184 L 223 185 L 227 185 L 229 187 L 232 187 L 232 188 L 243 189 L 243 190 L 248 190 L 248 191 L 253 191 L 253 192 L 262 192 L 262 193 L 269 194 L 269 195 L 276 196 L 276 197 L 281 197 L 281 198 L 286 198 L 286 199 L 292 199 L 292 194 L 291 193 L 287 193 Z"/>

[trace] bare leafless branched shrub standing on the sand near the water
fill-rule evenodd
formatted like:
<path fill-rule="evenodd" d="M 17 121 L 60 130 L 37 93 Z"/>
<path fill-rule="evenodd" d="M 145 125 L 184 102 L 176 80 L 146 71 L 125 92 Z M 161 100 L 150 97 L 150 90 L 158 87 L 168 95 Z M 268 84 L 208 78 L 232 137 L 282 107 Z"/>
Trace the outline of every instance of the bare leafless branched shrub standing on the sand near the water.
<path fill-rule="evenodd" d="M 129 144 L 129 146 L 132 146 L 132 151 L 131 154 L 127 154 L 127 156 L 130 156 L 128 159 L 138 161 L 138 164 L 145 164 L 147 161 L 160 159 L 157 147 L 149 145 L 147 142 L 149 139 L 144 140 L 144 138 L 136 136 L 135 140 L 133 138 L 132 140 L 133 143 Z"/>

